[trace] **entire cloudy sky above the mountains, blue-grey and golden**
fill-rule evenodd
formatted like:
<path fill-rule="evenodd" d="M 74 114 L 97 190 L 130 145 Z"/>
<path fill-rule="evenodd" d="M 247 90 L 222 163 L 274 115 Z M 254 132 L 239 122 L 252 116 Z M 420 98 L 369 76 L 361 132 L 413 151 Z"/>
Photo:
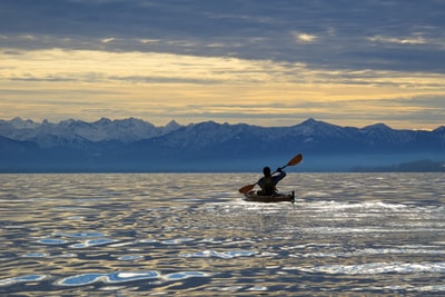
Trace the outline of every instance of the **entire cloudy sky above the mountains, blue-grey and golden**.
<path fill-rule="evenodd" d="M 442 0 L 1 0 L 0 119 L 445 125 Z"/>

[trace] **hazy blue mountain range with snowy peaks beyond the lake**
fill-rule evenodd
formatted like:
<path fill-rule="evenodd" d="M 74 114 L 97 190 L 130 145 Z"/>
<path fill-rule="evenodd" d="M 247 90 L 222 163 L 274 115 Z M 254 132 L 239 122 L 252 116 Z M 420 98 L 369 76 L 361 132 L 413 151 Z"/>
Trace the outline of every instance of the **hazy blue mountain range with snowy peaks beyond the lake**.
<path fill-rule="evenodd" d="M 215 121 L 156 127 L 135 118 L 0 120 L 0 172 L 260 171 L 296 154 L 304 162 L 289 170 L 347 171 L 416 160 L 445 168 L 445 126 L 426 131 L 315 119 L 290 127 Z"/>

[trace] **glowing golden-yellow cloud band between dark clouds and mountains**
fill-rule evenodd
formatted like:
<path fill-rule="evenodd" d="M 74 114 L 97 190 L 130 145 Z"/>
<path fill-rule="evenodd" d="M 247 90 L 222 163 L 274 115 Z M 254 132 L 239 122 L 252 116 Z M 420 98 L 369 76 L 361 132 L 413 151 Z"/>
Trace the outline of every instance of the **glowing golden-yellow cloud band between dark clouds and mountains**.
<path fill-rule="evenodd" d="M 309 38 L 310 39 L 310 38 Z M 445 97 L 442 73 L 314 69 L 305 63 L 92 50 L 3 51 L 0 118 L 44 113 L 269 117 L 418 111 L 399 100 Z M 385 105 L 382 102 L 398 103 Z M 340 103 L 343 102 L 343 103 Z M 380 102 L 380 103 L 378 103 Z M 80 115 L 80 116 L 76 116 Z M 340 117 L 340 116 L 338 116 Z M 264 119 L 263 123 L 265 123 Z M 258 122 L 259 123 L 259 122 Z"/>

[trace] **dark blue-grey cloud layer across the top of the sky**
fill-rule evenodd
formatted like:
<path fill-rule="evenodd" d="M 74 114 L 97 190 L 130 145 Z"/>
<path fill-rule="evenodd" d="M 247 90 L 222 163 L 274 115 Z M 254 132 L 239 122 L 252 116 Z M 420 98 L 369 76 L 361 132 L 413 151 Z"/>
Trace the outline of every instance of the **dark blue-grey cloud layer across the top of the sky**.
<path fill-rule="evenodd" d="M 0 28 L 4 28 L 0 34 L 6 37 L 6 48 L 156 51 L 307 62 L 332 69 L 404 69 L 413 49 L 425 57 L 443 55 L 445 21 L 439 11 L 444 10 L 445 2 L 434 0 L 347 6 L 338 0 L 6 0 L 0 2 Z M 310 48 L 296 50 L 295 41 Z M 394 44 L 403 44 L 398 51 L 407 58 L 393 59 Z M 427 58 L 416 60 L 411 66 L 415 70 L 434 66 Z M 435 71 L 445 69 L 445 61 L 436 65 Z"/>

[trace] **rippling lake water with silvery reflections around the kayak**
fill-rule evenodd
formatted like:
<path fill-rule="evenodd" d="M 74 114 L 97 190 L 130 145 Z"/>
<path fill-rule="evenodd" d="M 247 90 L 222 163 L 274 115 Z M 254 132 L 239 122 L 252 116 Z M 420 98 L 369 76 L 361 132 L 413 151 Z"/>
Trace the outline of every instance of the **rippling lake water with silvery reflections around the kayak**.
<path fill-rule="evenodd" d="M 257 177 L 0 175 L 0 295 L 445 295 L 443 174 Z"/>

